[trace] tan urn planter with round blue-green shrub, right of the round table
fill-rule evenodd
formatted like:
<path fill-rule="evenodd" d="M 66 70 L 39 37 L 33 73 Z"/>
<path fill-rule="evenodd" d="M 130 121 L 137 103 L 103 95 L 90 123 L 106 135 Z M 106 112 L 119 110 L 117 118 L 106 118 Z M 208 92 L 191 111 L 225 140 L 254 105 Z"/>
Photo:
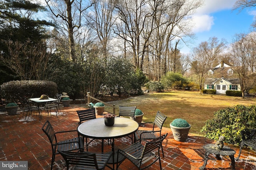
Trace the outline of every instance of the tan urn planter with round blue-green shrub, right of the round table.
<path fill-rule="evenodd" d="M 190 130 L 190 124 L 184 119 L 174 119 L 170 123 L 174 140 L 184 142 L 188 139 L 188 132 Z"/>

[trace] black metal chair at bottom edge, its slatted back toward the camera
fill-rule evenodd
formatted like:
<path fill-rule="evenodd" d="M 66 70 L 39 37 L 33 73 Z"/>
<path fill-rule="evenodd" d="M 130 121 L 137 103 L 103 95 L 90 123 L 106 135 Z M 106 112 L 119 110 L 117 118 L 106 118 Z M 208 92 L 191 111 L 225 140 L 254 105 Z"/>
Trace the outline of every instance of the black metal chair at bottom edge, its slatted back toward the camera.
<path fill-rule="evenodd" d="M 71 152 L 71 151 L 61 151 L 58 150 L 62 157 L 64 158 L 67 166 L 67 170 L 69 169 L 69 165 L 76 165 L 74 170 L 103 170 L 106 166 L 112 170 L 113 168 L 108 165 L 108 161 L 110 160 L 113 152 L 109 152 L 106 154 L 102 153 L 92 153 L 92 152 Z M 114 156 L 112 156 L 114 162 Z"/>

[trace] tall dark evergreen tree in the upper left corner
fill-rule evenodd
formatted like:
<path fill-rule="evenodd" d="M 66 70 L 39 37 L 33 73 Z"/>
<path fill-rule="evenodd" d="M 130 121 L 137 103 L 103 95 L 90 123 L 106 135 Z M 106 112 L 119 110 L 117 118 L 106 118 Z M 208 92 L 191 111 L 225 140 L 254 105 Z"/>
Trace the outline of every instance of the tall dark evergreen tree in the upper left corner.
<path fill-rule="evenodd" d="M 53 25 L 44 20 L 37 20 L 33 16 L 38 11 L 43 11 L 45 8 L 40 4 L 34 4 L 30 0 L 4 0 L 0 2 L 0 51 L 1 59 L 4 62 L 4 66 L 0 67 L 0 72 L 8 73 L 7 76 L 2 76 L 1 82 L 8 82 L 12 76 L 20 76 L 21 74 L 33 75 L 33 69 L 30 63 L 30 59 L 36 57 L 31 51 L 39 51 L 40 47 L 44 46 L 45 38 L 48 35 L 45 34 L 44 26 Z M 13 44 L 23 45 L 21 49 L 28 51 L 29 55 L 24 54 L 22 50 L 17 49 Z M 13 44 L 10 45 L 10 42 Z M 24 47 L 26 46 L 26 47 Z M 28 50 L 27 50 L 28 49 Z M 14 59 L 14 54 L 17 53 L 17 58 Z M 41 52 L 40 52 L 41 53 Z M 38 58 L 41 59 L 41 54 Z M 38 61 L 35 58 L 34 61 Z M 7 69 L 8 68 L 8 69 Z M 26 70 L 26 72 L 23 72 Z M 45 70 L 44 70 L 45 71 Z M 23 75 L 22 75 L 23 76 Z M 19 78 L 14 77 L 11 80 L 38 80 L 38 78 Z M 40 79 L 44 80 L 44 79 Z M 2 83 L 1 83 L 2 84 Z"/>

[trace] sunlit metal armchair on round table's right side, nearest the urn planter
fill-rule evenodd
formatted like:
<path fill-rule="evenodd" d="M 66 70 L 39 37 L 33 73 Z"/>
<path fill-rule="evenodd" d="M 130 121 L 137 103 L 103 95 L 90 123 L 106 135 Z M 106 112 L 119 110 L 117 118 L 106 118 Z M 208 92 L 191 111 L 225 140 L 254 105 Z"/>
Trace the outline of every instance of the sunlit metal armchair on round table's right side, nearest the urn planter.
<path fill-rule="evenodd" d="M 156 113 L 156 117 L 154 122 L 144 122 L 144 123 L 139 123 L 145 124 L 145 123 L 153 123 L 153 128 L 150 131 L 146 130 L 138 130 L 134 134 L 134 140 L 138 141 L 140 139 L 156 139 L 161 136 L 161 131 L 162 127 L 164 125 L 164 121 L 166 120 L 167 116 L 162 114 L 160 111 Z M 161 145 L 162 147 L 162 145 Z M 164 151 L 162 147 L 162 152 L 163 152 L 163 157 L 164 157 Z"/>

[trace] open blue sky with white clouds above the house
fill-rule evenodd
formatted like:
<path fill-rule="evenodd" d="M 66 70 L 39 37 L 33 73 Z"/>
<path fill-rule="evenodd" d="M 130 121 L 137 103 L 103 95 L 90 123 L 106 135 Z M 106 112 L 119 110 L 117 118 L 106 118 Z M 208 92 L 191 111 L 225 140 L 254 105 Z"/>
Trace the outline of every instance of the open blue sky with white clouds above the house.
<path fill-rule="evenodd" d="M 252 29 L 256 8 L 246 8 L 241 12 L 232 10 L 235 2 L 236 0 L 204 0 L 204 5 L 193 16 L 196 39 L 190 47 L 182 45 L 181 53 L 189 53 L 193 47 L 208 41 L 210 37 L 226 39 L 231 43 L 235 34 L 248 33 Z"/>

